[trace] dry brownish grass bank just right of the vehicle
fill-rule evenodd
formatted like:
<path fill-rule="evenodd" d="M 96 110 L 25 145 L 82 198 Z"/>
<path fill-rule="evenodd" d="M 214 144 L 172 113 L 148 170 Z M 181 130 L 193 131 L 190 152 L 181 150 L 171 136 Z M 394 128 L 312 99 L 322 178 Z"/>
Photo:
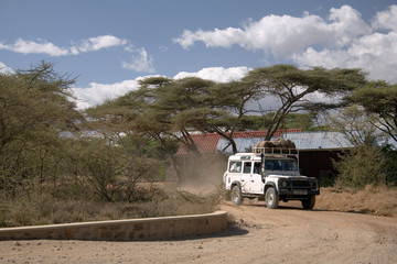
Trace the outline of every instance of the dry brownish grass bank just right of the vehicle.
<path fill-rule="evenodd" d="M 369 185 L 361 190 L 322 188 L 315 209 L 397 217 L 397 189 Z"/>

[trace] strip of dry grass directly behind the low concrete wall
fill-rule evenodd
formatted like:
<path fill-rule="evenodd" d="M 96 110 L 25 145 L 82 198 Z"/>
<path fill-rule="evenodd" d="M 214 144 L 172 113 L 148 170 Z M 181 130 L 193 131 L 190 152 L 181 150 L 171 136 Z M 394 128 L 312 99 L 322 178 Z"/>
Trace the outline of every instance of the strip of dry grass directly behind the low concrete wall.
<path fill-rule="evenodd" d="M 150 199 L 140 202 L 58 199 L 49 194 L 36 194 L 34 197 L 0 202 L 0 227 L 207 213 L 215 211 L 222 194 L 194 195 L 171 189 L 157 191 Z"/>

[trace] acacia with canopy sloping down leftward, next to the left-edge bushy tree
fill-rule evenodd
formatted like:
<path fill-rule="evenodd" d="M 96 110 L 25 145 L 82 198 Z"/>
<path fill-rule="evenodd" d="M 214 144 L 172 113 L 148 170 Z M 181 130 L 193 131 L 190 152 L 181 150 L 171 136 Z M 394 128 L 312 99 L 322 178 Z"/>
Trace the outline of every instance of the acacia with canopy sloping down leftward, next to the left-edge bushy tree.
<path fill-rule="evenodd" d="M 87 112 L 95 118 L 94 125 L 114 133 L 125 133 L 131 138 L 136 134 L 147 141 L 159 142 L 169 161 L 175 164 L 173 140 L 186 145 L 192 153 L 198 154 L 189 129 L 194 117 L 186 114 L 203 102 L 201 95 L 210 82 L 196 78 L 172 80 L 164 77 L 151 77 L 140 81 L 137 90 L 108 101 Z M 186 87 L 186 89 L 184 89 Z"/>

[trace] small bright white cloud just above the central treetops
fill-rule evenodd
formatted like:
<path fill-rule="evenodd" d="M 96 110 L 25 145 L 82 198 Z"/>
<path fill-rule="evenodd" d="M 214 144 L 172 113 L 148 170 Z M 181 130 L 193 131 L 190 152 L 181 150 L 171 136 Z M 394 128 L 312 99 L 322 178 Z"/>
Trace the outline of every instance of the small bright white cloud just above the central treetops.
<path fill-rule="evenodd" d="M 198 70 L 197 73 L 181 72 L 175 75 L 174 79 L 182 79 L 186 77 L 198 77 L 202 79 L 210 79 L 218 82 L 227 82 L 243 78 L 251 68 L 248 67 L 208 67 Z"/>

